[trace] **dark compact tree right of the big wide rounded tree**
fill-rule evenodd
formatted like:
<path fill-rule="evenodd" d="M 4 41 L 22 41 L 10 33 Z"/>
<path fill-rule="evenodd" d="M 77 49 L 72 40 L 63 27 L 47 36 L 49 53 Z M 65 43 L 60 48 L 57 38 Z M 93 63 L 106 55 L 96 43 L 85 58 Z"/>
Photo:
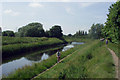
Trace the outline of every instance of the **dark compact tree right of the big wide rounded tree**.
<path fill-rule="evenodd" d="M 50 33 L 49 33 L 50 37 L 57 37 L 57 38 L 61 38 L 63 36 L 62 33 L 62 29 L 61 26 L 59 25 L 55 25 L 50 29 Z"/>

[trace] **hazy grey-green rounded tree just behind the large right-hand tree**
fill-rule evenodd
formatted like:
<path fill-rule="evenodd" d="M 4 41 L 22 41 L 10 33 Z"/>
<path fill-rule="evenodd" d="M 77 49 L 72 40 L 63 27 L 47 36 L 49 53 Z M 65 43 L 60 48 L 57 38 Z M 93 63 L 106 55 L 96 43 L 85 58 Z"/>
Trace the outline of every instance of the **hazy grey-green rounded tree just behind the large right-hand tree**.
<path fill-rule="evenodd" d="M 99 39 L 102 36 L 102 28 L 103 28 L 103 24 L 93 24 L 91 26 L 91 29 L 89 30 L 89 37 L 93 38 L 93 39 Z"/>

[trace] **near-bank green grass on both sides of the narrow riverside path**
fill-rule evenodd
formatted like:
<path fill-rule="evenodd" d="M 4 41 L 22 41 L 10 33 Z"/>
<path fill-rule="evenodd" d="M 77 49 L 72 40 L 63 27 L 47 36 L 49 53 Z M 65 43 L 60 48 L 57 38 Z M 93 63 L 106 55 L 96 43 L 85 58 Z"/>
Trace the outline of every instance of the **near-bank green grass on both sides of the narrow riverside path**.
<path fill-rule="evenodd" d="M 61 52 L 61 59 L 69 54 L 72 55 L 40 76 L 37 75 L 57 62 L 55 54 L 41 63 L 18 69 L 7 78 L 114 78 L 115 65 L 104 42 L 89 40 L 83 45 Z"/>

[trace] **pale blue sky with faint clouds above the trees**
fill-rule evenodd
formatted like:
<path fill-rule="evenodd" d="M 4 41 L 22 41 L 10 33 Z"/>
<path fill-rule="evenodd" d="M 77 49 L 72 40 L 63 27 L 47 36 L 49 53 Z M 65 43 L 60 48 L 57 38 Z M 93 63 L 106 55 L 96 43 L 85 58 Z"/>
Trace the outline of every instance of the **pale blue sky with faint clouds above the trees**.
<path fill-rule="evenodd" d="M 104 24 L 108 8 L 114 2 L 2 2 L 0 26 L 16 32 L 32 22 L 43 24 L 44 30 L 60 25 L 64 34 L 88 31 L 92 24 Z"/>

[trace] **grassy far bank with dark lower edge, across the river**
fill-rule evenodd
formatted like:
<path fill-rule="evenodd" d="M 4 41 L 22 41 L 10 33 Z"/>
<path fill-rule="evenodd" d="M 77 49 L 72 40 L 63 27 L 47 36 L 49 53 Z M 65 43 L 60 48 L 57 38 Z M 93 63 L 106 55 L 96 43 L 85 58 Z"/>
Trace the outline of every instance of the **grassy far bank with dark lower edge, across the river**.
<path fill-rule="evenodd" d="M 22 37 L 21 37 L 22 38 Z M 8 37 L 7 40 L 3 38 L 4 45 L 2 46 L 2 59 L 5 60 L 9 58 L 10 56 L 14 57 L 17 55 L 26 54 L 28 52 L 34 52 L 38 50 L 43 50 L 49 47 L 54 47 L 56 45 L 65 44 L 65 41 L 62 41 L 58 38 L 29 38 L 29 40 L 26 37 L 23 38 L 23 41 L 20 43 L 19 39 L 16 39 L 12 37 L 13 41 L 11 41 L 11 38 Z M 30 40 L 31 39 L 31 40 Z"/>

